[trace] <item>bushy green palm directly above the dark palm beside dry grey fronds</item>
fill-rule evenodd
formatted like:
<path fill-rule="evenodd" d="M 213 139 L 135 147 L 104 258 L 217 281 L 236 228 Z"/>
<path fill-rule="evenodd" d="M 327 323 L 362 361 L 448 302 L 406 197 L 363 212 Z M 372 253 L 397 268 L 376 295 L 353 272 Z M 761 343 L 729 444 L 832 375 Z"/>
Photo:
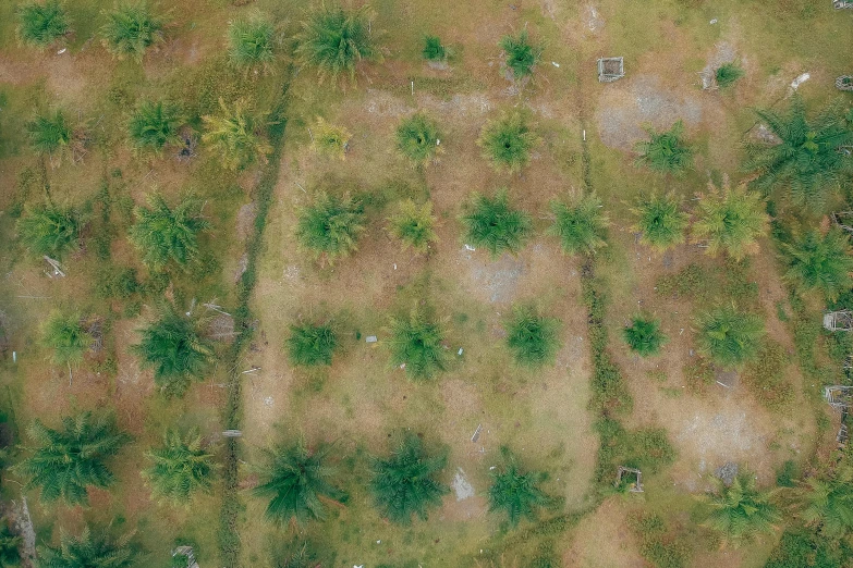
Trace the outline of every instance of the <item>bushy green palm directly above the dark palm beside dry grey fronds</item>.
<path fill-rule="evenodd" d="M 135 209 L 136 223 L 130 229 L 143 262 L 158 272 L 172 262 L 187 270 L 198 257 L 198 233 L 210 229 L 202 219 L 200 201 L 186 198 L 173 209 L 159 194 L 150 194 L 146 201 L 148 207 Z"/>

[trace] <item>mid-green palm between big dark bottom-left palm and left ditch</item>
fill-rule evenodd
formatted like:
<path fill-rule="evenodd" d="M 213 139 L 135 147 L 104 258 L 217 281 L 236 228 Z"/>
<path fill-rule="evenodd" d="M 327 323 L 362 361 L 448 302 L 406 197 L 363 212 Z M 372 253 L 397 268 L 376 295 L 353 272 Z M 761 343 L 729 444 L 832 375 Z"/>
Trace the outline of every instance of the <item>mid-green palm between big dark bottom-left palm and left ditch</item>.
<path fill-rule="evenodd" d="M 187 504 L 197 491 L 209 492 L 216 466 L 214 454 L 202 443 L 202 434 L 193 430 L 182 435 L 168 430 L 163 445 L 146 453 L 151 466 L 142 472 L 155 496 L 174 504 Z"/>

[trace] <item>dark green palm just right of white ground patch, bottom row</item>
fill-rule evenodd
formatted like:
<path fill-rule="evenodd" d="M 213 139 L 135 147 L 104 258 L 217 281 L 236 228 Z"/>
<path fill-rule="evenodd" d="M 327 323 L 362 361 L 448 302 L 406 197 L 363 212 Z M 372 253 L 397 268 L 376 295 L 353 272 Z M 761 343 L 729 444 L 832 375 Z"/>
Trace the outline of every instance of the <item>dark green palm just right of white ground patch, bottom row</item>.
<path fill-rule="evenodd" d="M 547 474 L 538 471 L 522 473 L 515 456 L 505 446 L 500 448 L 503 467 L 489 472 L 489 510 L 505 510 L 510 524 L 515 527 L 522 517 L 536 519 L 536 509 L 547 506 L 551 499 L 540 489 L 539 483 Z"/>

